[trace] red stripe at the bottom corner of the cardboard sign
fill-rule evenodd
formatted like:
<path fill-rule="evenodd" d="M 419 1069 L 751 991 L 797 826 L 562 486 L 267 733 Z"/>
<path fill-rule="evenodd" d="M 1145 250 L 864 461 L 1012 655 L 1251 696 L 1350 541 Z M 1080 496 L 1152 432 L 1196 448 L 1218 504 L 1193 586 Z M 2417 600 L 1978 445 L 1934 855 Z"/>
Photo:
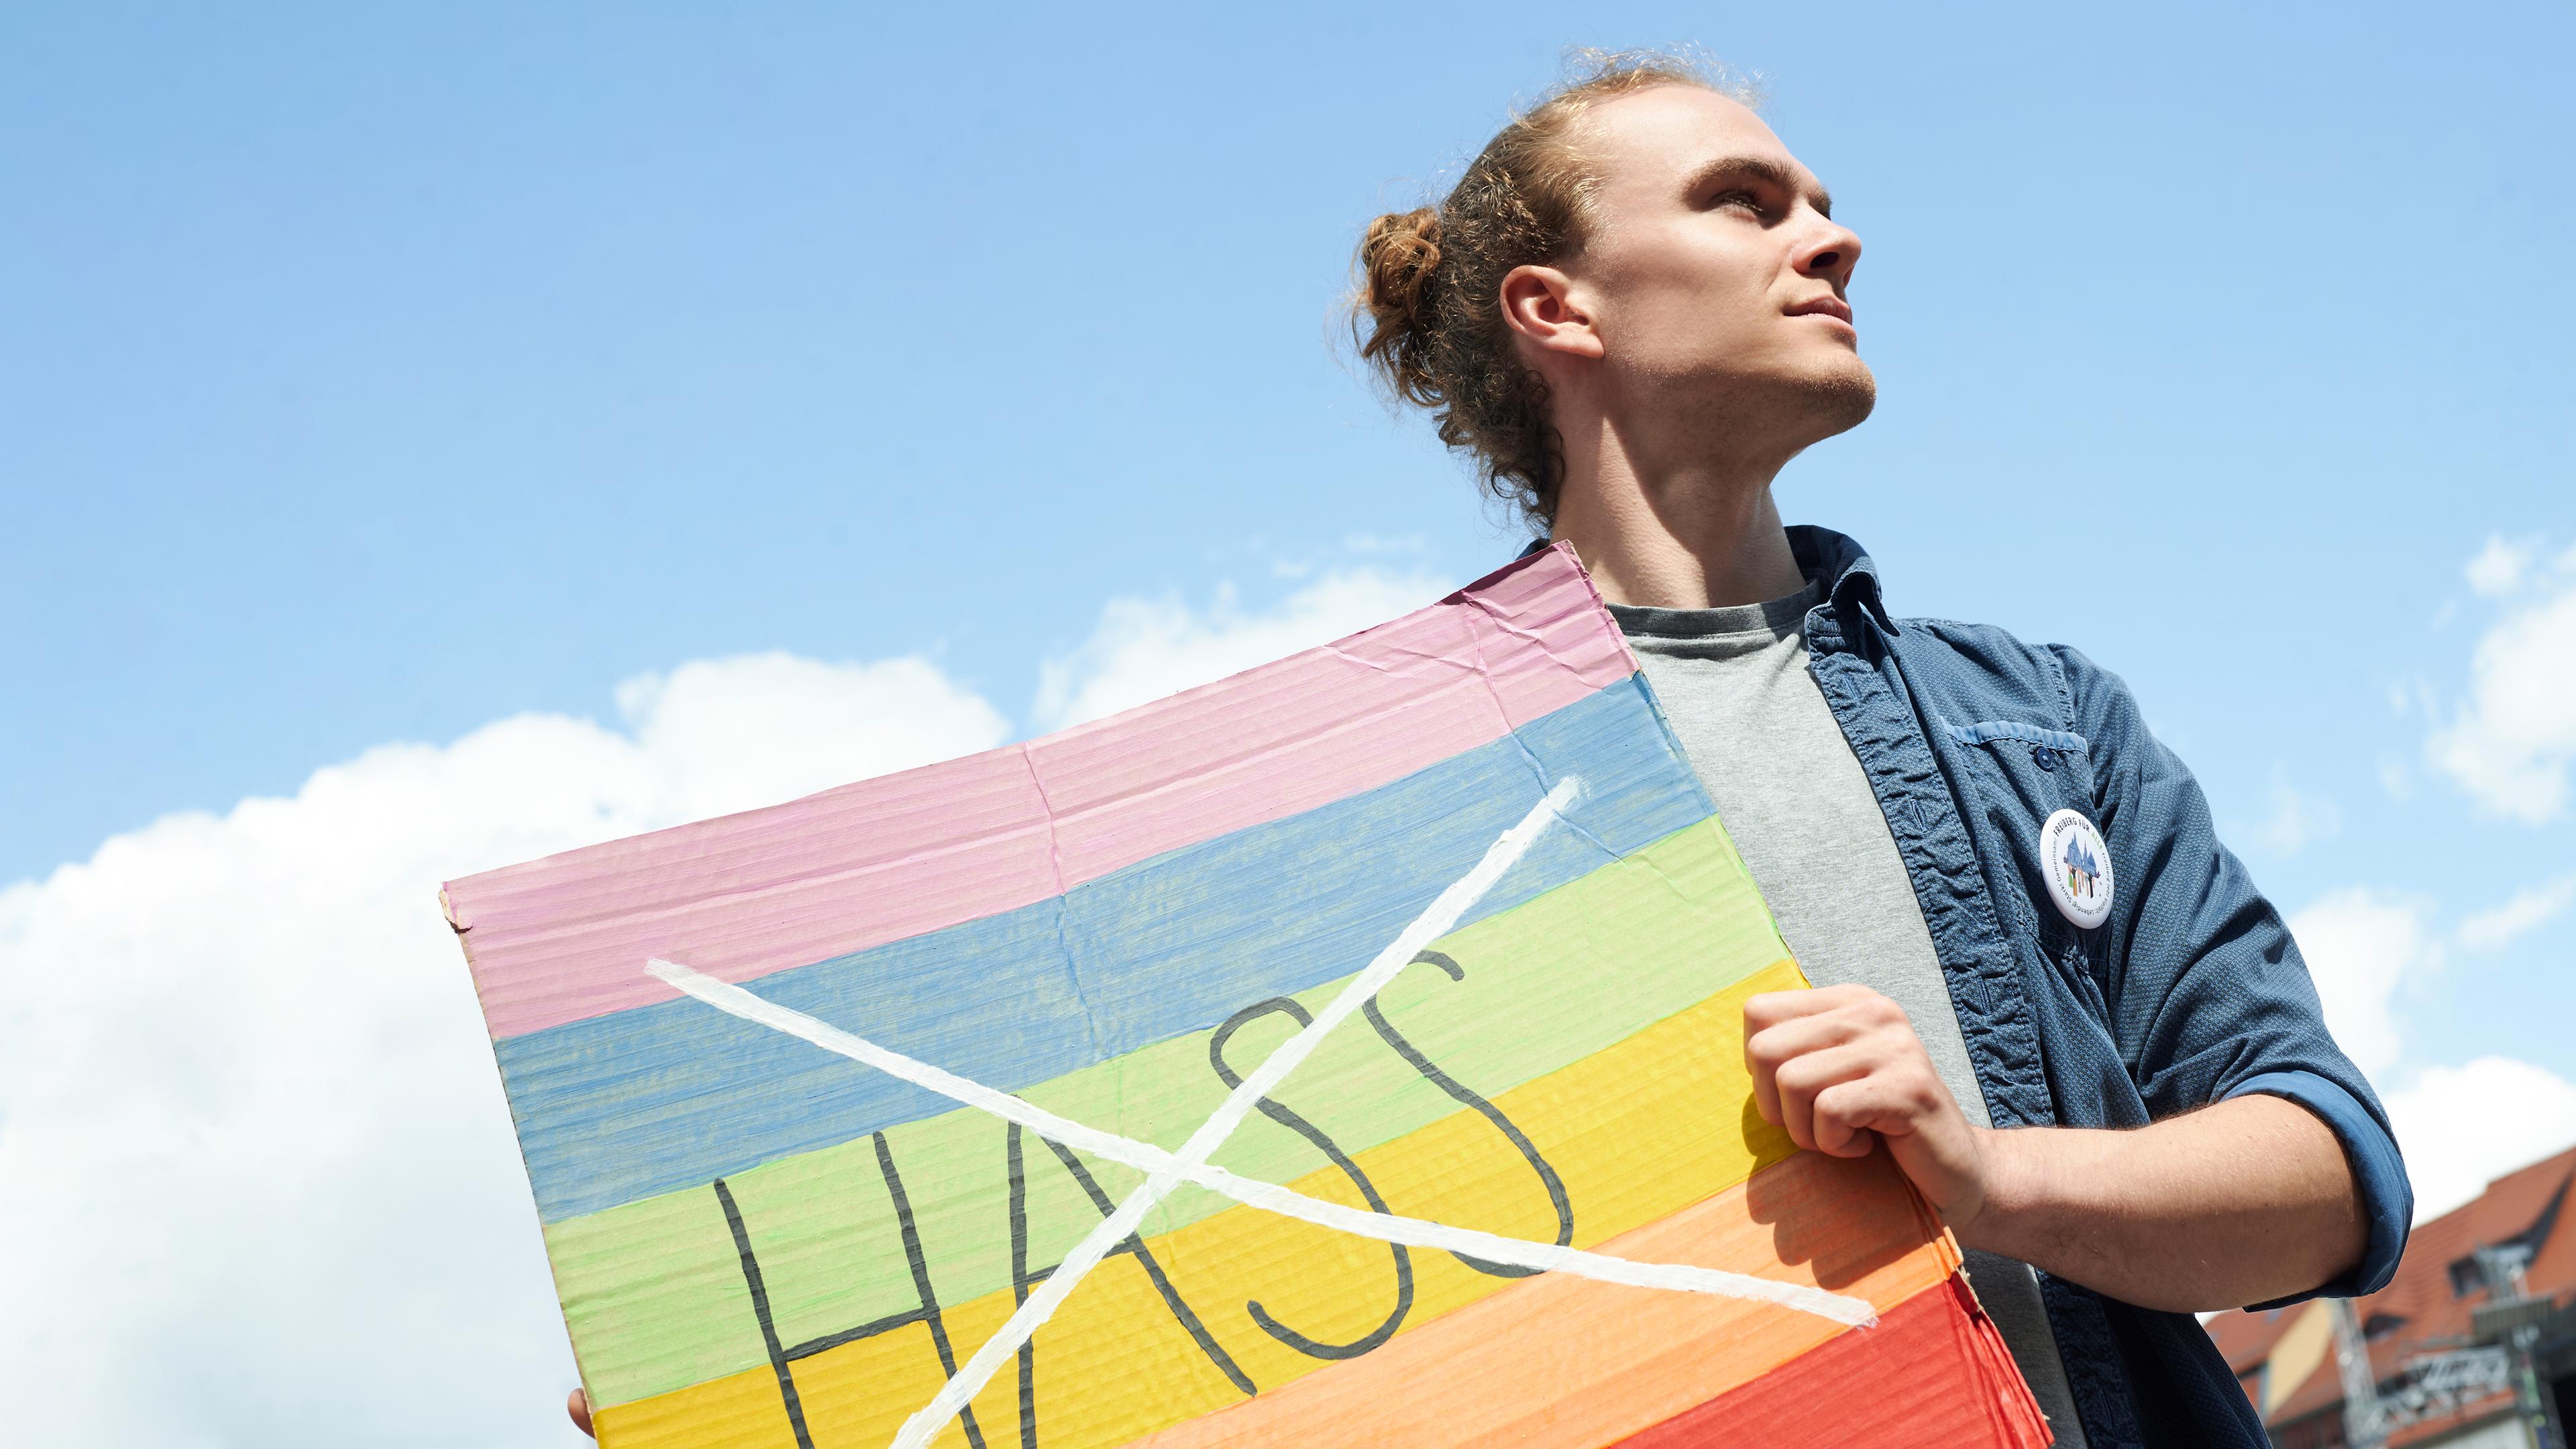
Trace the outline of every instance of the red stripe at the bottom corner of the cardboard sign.
<path fill-rule="evenodd" d="M 1618 1449 L 2038 1449 L 2053 1444 L 1994 1323 L 1965 1284 L 1922 1292 L 1759 1379 L 1667 1418 Z M 1852 1392 L 1865 1385 L 1868 1392 Z"/>

